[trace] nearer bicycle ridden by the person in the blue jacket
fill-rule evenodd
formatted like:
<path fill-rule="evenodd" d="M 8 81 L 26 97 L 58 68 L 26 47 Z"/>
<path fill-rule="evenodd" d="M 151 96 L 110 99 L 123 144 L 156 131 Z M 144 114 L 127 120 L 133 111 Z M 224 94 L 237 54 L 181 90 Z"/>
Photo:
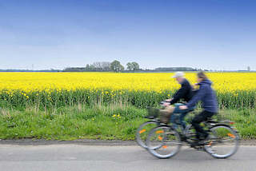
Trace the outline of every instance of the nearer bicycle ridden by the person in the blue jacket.
<path fill-rule="evenodd" d="M 158 125 L 150 130 L 146 139 L 147 149 L 158 158 L 174 157 L 179 152 L 182 142 L 186 142 L 194 149 L 204 150 L 215 158 L 231 157 L 238 151 L 240 137 L 238 131 L 232 126 L 234 122 L 208 119 L 202 124 L 206 125 L 206 131 L 210 136 L 200 142 L 196 141 L 192 125 L 187 125 L 182 133 L 172 125 Z M 227 142 L 233 143 L 226 145 Z"/>

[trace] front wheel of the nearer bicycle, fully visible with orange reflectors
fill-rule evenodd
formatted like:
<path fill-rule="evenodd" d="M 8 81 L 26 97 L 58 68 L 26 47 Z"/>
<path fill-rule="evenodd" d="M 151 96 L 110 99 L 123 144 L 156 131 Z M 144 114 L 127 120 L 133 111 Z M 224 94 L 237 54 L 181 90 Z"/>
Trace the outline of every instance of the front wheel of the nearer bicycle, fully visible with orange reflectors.
<path fill-rule="evenodd" d="M 167 125 L 160 125 L 150 130 L 146 145 L 155 157 L 169 158 L 178 153 L 182 142 L 176 130 Z"/>

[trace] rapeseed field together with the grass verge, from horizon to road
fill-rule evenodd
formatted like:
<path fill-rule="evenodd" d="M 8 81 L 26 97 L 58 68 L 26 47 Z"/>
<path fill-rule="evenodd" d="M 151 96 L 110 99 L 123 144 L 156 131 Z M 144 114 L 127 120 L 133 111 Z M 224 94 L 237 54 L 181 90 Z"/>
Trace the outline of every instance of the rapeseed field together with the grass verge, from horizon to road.
<path fill-rule="evenodd" d="M 172 96 L 172 74 L 0 73 L 0 139 L 133 140 L 146 106 Z M 208 73 L 220 116 L 256 138 L 256 74 Z M 195 73 L 186 73 L 195 83 Z"/>

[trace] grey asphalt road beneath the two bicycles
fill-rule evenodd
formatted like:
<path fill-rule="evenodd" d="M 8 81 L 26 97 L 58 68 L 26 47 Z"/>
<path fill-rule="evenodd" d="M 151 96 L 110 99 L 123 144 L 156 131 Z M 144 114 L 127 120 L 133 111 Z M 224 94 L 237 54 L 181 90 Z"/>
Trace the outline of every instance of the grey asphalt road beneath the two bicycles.
<path fill-rule="evenodd" d="M 173 158 L 158 159 L 138 146 L 0 145 L 1 171 L 253 171 L 255 161 L 256 146 L 240 146 L 228 159 L 215 159 L 188 147 Z"/>

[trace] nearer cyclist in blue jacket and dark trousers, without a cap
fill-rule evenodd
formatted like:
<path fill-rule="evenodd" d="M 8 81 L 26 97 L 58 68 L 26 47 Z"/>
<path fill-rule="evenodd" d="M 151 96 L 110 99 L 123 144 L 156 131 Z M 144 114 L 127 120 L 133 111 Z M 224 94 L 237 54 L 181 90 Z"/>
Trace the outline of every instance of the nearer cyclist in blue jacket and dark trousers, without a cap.
<path fill-rule="evenodd" d="M 202 121 L 206 121 L 208 118 L 214 116 L 218 113 L 218 101 L 214 90 L 211 88 L 212 82 L 206 77 L 206 74 L 199 72 L 198 85 L 200 88 L 194 97 L 186 104 L 181 105 L 180 109 L 189 109 L 191 106 L 196 105 L 198 101 L 202 101 L 203 111 L 194 117 L 192 120 L 192 125 L 197 131 L 198 140 L 204 140 L 208 137 L 208 133 L 200 126 Z"/>

